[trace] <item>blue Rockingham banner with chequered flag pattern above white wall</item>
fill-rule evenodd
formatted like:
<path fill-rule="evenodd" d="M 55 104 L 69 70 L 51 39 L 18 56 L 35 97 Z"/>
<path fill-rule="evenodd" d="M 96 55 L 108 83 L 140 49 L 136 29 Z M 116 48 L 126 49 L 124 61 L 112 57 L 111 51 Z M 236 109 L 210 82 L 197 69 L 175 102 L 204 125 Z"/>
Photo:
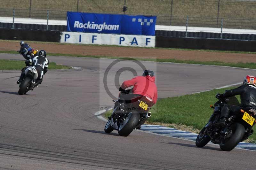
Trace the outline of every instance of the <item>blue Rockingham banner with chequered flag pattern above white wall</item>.
<path fill-rule="evenodd" d="M 67 31 L 155 35 L 156 16 L 67 12 Z"/>

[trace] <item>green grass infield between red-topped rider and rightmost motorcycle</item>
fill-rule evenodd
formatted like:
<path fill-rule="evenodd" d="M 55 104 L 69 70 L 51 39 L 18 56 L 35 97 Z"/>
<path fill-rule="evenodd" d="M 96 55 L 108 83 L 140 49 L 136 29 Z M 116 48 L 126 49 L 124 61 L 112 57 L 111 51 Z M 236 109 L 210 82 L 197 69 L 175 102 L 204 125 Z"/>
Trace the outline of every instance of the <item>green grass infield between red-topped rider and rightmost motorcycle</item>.
<path fill-rule="evenodd" d="M 199 133 L 212 115 L 213 109 L 209 106 L 217 101 L 215 95 L 233 88 L 235 87 L 160 99 L 152 107 L 152 116 L 146 123 Z M 105 117 L 110 115 L 111 111 L 108 111 Z M 255 131 L 256 127 L 253 129 Z M 256 143 L 256 134 L 252 134 L 245 142 Z"/>

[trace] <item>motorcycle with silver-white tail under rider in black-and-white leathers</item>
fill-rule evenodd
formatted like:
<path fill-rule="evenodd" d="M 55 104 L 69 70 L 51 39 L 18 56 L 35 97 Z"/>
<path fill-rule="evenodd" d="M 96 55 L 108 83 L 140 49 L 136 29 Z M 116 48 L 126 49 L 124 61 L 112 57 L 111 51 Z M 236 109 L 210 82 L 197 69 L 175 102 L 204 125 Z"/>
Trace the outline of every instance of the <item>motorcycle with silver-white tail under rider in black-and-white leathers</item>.
<path fill-rule="evenodd" d="M 35 80 L 37 79 L 38 73 L 34 66 L 29 66 L 25 70 L 25 77 L 20 83 L 20 89 L 18 91 L 19 95 L 26 94 L 29 90 L 33 89 L 31 84 L 35 84 Z"/>

